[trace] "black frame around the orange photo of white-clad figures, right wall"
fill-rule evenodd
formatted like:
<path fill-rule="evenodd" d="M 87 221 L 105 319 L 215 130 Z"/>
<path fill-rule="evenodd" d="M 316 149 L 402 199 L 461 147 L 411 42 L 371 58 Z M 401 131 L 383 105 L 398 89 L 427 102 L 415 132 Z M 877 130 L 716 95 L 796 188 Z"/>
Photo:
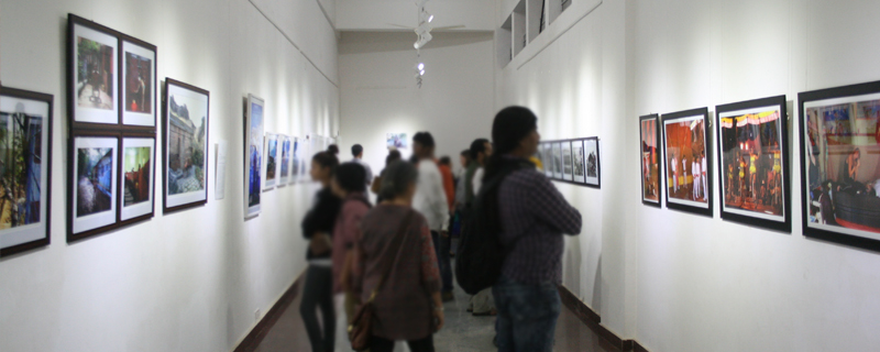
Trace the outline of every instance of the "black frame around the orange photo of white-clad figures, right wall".
<path fill-rule="evenodd" d="M 705 217 L 710 217 L 710 218 L 714 217 L 714 212 L 713 212 L 714 211 L 714 208 L 713 208 L 713 201 L 714 200 L 713 200 L 713 188 L 712 188 L 712 186 L 713 186 L 712 185 L 712 179 L 713 179 L 714 175 L 712 175 L 712 153 L 711 153 L 711 148 L 710 148 L 710 145 L 712 145 L 712 139 L 711 139 L 712 134 L 710 132 L 708 108 L 700 108 L 700 109 L 685 110 L 685 111 L 679 111 L 679 112 L 672 112 L 672 113 L 664 113 L 664 114 L 661 116 L 660 119 L 661 119 L 661 124 L 662 124 L 662 130 L 663 130 L 663 132 L 662 132 L 663 170 L 664 170 L 664 173 L 663 173 L 663 178 L 664 178 L 663 184 L 666 185 L 663 195 L 666 196 L 664 197 L 664 202 L 667 205 L 667 208 L 668 209 L 673 209 L 673 210 L 679 210 L 679 211 L 684 211 L 684 212 L 690 212 L 690 213 L 694 213 L 694 215 L 705 216 Z M 706 158 L 706 166 L 707 166 L 707 172 L 706 172 L 706 189 L 707 189 L 707 191 L 706 191 L 706 206 L 705 207 L 697 206 L 698 202 L 689 201 L 686 199 L 681 199 L 678 196 L 676 197 L 672 197 L 673 201 L 670 201 L 669 178 L 672 177 L 672 175 L 670 175 L 670 173 L 672 170 L 670 170 L 670 167 L 669 167 L 669 165 L 670 165 L 670 162 L 669 162 L 669 153 L 670 153 L 670 151 L 669 151 L 668 125 L 672 124 L 672 123 L 684 122 L 683 120 L 702 121 L 703 122 L 703 134 L 702 134 L 703 135 L 703 150 L 702 150 L 702 152 L 704 153 L 703 155 Z M 675 162 L 678 163 L 678 160 L 675 160 Z M 673 178 L 675 179 L 675 182 L 678 180 L 678 177 L 673 177 Z M 686 177 L 685 177 L 685 182 L 686 182 Z M 684 189 L 684 186 L 686 186 L 686 184 L 682 186 L 683 189 Z M 678 189 L 678 187 L 674 187 L 674 188 Z"/>

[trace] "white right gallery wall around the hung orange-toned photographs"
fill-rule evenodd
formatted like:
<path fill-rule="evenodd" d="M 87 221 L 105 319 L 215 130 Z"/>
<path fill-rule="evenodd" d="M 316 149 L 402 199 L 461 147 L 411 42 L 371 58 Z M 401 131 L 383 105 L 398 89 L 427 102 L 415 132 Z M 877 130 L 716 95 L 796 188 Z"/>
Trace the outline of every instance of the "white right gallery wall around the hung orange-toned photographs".
<path fill-rule="evenodd" d="M 497 25 L 515 3 L 497 2 Z M 717 175 L 714 218 L 642 206 L 637 121 L 787 95 L 796 151 L 798 92 L 880 79 L 880 52 L 865 45 L 880 32 L 871 20 L 880 8 L 603 0 L 588 12 L 578 3 L 557 20 L 571 22 L 541 34 L 550 44 L 536 38 L 497 80 L 498 107 L 529 105 L 544 138 L 603 138 L 602 191 L 559 184 L 585 219 L 584 233 L 568 241 L 564 284 L 603 326 L 650 351 L 873 349 L 880 254 L 803 237 L 796 191 L 791 234 L 725 222 Z M 590 233 L 593 224 L 601 234 Z M 585 243 L 594 237 L 598 249 Z"/>

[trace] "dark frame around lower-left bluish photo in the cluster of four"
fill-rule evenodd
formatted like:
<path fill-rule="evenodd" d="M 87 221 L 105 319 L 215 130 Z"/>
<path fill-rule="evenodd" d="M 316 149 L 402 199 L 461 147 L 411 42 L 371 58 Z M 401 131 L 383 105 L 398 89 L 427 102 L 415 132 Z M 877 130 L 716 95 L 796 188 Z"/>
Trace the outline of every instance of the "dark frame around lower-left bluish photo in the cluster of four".
<path fill-rule="evenodd" d="M 74 224 L 77 218 L 77 197 L 74 191 L 73 182 L 77 179 L 77 150 L 76 150 L 76 140 L 77 139 L 112 139 L 116 140 L 116 144 L 113 145 L 117 155 L 113 155 L 110 160 L 117 165 L 112 166 L 113 173 L 119 172 L 119 151 L 122 148 L 122 139 L 121 134 L 116 131 L 100 131 L 100 130 L 80 130 L 80 131 L 72 131 L 70 138 L 68 139 L 68 161 L 67 163 L 67 179 L 65 183 L 68 184 L 67 187 L 67 242 L 77 242 L 84 239 L 88 239 L 91 237 L 96 237 L 108 231 L 112 231 L 119 227 L 119 205 L 116 204 L 118 201 L 119 195 L 110 195 L 109 199 L 116 204 L 116 209 L 112 211 L 113 221 L 107 224 L 102 224 L 99 227 L 90 228 L 88 230 L 77 232 Z M 118 183 L 117 180 L 118 175 L 111 175 L 112 183 Z M 109 187 L 116 193 L 119 193 L 118 185 L 112 185 Z M 109 210 L 109 209 L 108 209 Z"/>

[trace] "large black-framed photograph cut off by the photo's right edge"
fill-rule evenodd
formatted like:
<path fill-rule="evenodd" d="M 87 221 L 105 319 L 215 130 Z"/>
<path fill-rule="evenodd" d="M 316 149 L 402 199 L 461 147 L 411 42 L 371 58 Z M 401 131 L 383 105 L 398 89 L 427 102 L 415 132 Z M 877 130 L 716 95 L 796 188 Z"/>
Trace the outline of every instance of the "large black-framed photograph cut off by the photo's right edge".
<path fill-rule="evenodd" d="M 880 251 L 880 81 L 798 98 L 804 234 Z"/>

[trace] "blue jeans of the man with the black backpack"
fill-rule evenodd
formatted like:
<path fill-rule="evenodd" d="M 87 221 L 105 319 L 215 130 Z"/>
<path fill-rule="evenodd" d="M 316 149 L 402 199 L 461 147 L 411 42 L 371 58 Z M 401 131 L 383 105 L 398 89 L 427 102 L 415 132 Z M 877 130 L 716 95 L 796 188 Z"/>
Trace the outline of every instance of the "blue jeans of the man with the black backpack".
<path fill-rule="evenodd" d="M 561 301 L 553 283 L 520 284 L 502 276 L 493 286 L 499 352 L 550 352 Z"/>

